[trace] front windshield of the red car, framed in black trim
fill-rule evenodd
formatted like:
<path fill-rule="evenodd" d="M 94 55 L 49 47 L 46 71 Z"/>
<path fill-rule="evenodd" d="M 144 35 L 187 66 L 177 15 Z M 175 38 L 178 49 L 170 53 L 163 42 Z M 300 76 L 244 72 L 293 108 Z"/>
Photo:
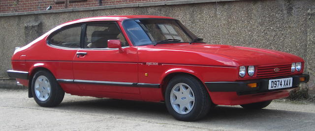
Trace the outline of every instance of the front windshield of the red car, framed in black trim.
<path fill-rule="evenodd" d="M 133 45 L 189 43 L 197 38 L 179 21 L 171 19 L 126 20 L 123 23 Z"/>

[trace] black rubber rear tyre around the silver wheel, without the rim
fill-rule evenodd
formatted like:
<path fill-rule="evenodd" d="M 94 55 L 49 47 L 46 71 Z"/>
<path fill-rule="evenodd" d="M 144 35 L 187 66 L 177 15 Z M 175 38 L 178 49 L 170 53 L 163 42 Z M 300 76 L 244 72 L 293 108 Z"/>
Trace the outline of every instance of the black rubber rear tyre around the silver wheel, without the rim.
<path fill-rule="evenodd" d="M 50 94 L 47 100 L 40 100 L 35 93 L 35 81 L 39 76 L 45 76 L 50 84 Z M 59 105 L 63 101 L 64 91 L 57 83 L 56 78 L 48 71 L 37 71 L 32 79 L 32 95 L 35 102 L 42 107 L 54 107 Z"/>

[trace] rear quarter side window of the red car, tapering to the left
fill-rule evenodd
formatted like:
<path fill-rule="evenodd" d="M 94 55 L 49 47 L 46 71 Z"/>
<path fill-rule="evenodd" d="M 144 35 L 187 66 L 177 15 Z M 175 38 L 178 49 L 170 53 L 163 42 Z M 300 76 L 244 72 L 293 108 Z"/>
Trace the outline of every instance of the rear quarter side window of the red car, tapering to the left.
<path fill-rule="evenodd" d="M 56 34 L 54 34 L 49 39 L 49 44 L 79 48 L 80 47 L 80 37 L 81 37 L 81 25 L 67 27 Z"/>

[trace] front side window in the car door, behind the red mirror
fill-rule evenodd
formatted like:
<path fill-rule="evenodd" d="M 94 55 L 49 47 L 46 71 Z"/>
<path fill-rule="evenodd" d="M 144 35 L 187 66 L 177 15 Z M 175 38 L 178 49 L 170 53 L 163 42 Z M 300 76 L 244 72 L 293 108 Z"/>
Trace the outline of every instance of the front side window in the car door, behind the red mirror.
<path fill-rule="evenodd" d="M 107 40 L 120 40 L 123 47 L 128 46 L 115 22 L 87 24 L 85 48 L 107 48 Z"/>

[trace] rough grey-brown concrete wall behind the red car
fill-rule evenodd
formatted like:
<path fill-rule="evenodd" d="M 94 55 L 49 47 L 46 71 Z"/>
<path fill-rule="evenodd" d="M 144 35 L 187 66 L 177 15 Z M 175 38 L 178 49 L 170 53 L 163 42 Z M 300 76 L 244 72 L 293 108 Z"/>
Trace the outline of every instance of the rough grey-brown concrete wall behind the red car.
<path fill-rule="evenodd" d="M 315 0 L 179 0 L 25 14 L 0 14 L 0 77 L 7 77 L 14 47 L 66 21 L 107 15 L 159 15 L 184 23 L 208 44 L 230 44 L 292 53 L 306 61 L 315 94 Z M 37 31 L 30 32 L 30 27 Z"/>

